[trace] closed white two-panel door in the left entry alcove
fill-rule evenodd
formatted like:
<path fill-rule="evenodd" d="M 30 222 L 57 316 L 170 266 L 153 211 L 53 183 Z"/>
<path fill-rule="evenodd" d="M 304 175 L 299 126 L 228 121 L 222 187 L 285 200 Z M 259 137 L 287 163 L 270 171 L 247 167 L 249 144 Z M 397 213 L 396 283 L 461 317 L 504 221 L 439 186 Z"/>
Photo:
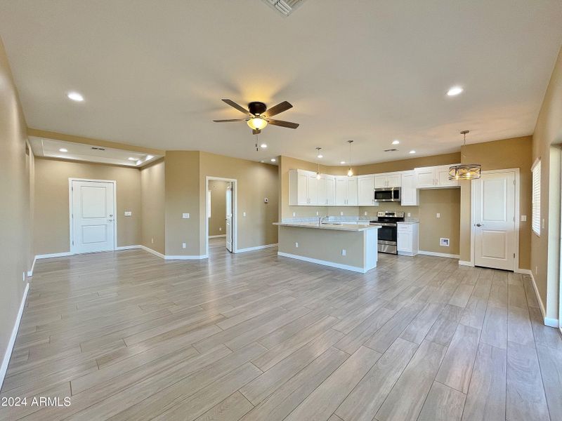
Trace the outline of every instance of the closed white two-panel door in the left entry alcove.
<path fill-rule="evenodd" d="M 115 184 L 72 180 L 71 250 L 115 250 Z"/>

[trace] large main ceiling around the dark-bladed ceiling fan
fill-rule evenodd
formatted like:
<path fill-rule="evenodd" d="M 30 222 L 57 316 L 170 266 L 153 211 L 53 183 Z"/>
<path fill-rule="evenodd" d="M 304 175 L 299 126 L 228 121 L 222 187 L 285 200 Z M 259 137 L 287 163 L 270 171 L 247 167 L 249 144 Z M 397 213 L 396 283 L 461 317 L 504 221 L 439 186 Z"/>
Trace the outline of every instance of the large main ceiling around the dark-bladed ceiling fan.
<path fill-rule="evenodd" d="M 2 0 L 28 126 L 159 149 L 328 164 L 532 133 L 562 42 L 560 0 Z M 450 86 L 464 93 L 447 97 Z M 84 102 L 66 98 L 68 91 Z M 294 108 L 256 152 L 221 102 Z M 398 152 L 383 152 L 400 140 Z"/>

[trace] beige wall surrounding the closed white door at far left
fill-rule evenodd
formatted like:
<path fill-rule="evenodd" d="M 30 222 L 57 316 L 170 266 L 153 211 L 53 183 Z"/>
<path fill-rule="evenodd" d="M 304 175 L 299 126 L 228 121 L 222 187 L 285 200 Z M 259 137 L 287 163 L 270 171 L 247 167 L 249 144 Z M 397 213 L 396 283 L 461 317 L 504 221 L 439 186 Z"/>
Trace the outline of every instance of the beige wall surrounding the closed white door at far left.
<path fill-rule="evenodd" d="M 141 242 L 141 173 L 137 168 L 101 163 L 35 159 L 36 255 L 70 251 L 69 178 L 117 182 L 117 246 Z M 131 210 L 132 216 L 124 216 Z"/>

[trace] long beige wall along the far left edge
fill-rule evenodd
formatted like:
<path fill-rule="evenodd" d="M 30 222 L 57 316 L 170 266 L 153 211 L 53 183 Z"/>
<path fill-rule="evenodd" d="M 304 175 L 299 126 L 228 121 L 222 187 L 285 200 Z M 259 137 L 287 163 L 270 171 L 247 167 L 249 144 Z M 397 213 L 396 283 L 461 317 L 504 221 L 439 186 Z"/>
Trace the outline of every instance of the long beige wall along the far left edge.
<path fill-rule="evenodd" d="M 0 361 L 4 359 L 32 255 L 33 156 L 26 154 L 27 127 L 0 40 Z"/>

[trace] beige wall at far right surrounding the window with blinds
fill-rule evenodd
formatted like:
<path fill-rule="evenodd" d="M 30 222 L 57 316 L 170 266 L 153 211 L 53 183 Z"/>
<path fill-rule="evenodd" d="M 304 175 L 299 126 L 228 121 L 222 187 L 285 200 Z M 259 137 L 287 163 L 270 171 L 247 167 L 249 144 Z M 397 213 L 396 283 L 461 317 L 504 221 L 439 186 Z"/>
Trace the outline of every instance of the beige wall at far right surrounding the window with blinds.
<path fill-rule="evenodd" d="M 541 160 L 540 236 L 531 235 L 532 274 L 537 283 L 547 317 L 558 319 L 559 241 L 560 241 L 560 150 L 562 142 L 562 50 L 558 53 L 547 93 L 544 95 L 535 133 L 532 161 Z"/>

